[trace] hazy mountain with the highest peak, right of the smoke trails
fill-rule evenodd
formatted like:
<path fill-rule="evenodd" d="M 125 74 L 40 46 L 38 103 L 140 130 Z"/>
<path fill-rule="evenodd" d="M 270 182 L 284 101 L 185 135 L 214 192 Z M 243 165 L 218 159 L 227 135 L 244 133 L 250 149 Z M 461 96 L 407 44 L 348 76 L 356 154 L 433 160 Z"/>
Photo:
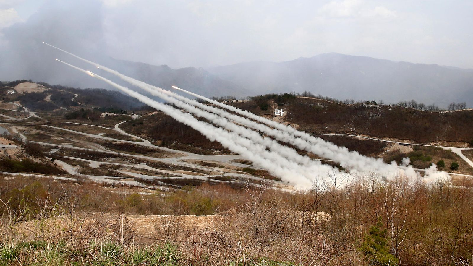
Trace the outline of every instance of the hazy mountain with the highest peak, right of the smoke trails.
<path fill-rule="evenodd" d="M 338 99 L 397 102 L 410 99 L 473 106 L 473 70 L 324 53 L 287 62 L 246 62 L 209 72 L 254 94 L 303 92 Z"/>

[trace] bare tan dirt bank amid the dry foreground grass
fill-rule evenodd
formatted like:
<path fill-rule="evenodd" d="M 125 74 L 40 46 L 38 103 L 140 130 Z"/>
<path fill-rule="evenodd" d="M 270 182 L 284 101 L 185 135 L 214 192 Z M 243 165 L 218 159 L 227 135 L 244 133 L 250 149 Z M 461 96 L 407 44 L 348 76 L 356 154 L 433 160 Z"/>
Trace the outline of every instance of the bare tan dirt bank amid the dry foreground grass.
<path fill-rule="evenodd" d="M 288 214 L 289 215 L 289 214 Z M 323 223 L 331 219 L 324 212 L 294 212 L 299 226 Z M 234 211 L 214 215 L 129 215 L 114 213 L 79 213 L 73 216 L 54 216 L 42 220 L 18 223 L 16 234 L 24 237 L 125 237 L 148 240 L 184 240 L 189 231 L 225 231 L 228 224 L 235 222 Z M 228 229 L 228 228 L 227 228 Z"/>

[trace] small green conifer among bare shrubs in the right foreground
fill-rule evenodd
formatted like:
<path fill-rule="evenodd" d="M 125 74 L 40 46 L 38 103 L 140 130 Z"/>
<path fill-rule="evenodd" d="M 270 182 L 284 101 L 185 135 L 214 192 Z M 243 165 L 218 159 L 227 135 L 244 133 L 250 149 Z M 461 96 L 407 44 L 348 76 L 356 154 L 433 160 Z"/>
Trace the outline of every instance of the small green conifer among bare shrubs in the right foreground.
<path fill-rule="evenodd" d="M 371 226 L 369 229 L 368 235 L 365 236 L 365 240 L 359 250 L 374 265 L 397 265 L 398 259 L 389 253 L 386 239 L 387 229 L 381 230 L 381 228 L 383 228 L 383 223 L 380 216 L 376 225 Z"/>

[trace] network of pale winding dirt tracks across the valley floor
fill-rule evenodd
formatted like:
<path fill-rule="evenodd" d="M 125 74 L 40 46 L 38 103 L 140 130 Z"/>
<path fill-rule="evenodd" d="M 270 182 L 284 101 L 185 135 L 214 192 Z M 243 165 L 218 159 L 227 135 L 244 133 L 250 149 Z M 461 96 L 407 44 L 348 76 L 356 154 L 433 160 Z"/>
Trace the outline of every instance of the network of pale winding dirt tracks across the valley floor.
<path fill-rule="evenodd" d="M 120 122 L 118 124 L 115 124 L 113 128 L 108 128 L 108 127 L 99 126 L 99 125 L 82 124 L 82 123 L 72 123 L 72 122 L 67 122 L 67 123 L 68 124 L 80 124 L 80 125 L 104 128 L 104 129 L 107 129 L 107 130 L 114 130 L 114 131 L 116 131 L 120 134 L 123 134 L 123 135 L 129 136 L 129 137 L 132 137 L 134 139 L 140 140 L 141 142 L 134 142 L 134 141 L 114 139 L 114 138 L 111 138 L 111 137 L 105 137 L 105 136 L 102 136 L 103 133 L 91 134 L 91 133 L 84 133 L 84 132 L 80 132 L 80 131 L 65 129 L 65 128 L 61 128 L 61 127 L 51 126 L 51 125 L 42 125 L 42 126 L 57 129 L 57 130 L 61 130 L 61 131 L 65 131 L 65 132 L 70 132 L 70 133 L 83 135 L 83 136 L 86 136 L 86 137 L 89 137 L 89 138 L 95 138 L 95 139 L 101 139 L 101 140 L 113 141 L 113 142 L 131 143 L 131 144 L 134 144 L 134 145 L 141 145 L 141 146 L 149 147 L 149 148 L 160 150 L 160 151 L 170 152 L 170 153 L 173 153 L 177 156 L 175 156 L 173 158 L 155 158 L 155 157 L 146 156 L 146 155 L 116 152 L 116 151 L 110 151 L 110 150 L 108 150 L 108 149 L 106 149 L 106 148 L 102 147 L 101 145 L 99 145 L 97 143 L 94 143 L 94 142 L 86 142 L 86 141 L 79 141 L 79 140 L 74 140 L 74 141 L 87 144 L 89 147 L 92 146 L 91 149 L 75 147 L 72 144 L 53 144 L 53 143 L 36 142 L 36 141 L 30 141 L 30 142 L 37 143 L 37 144 L 40 144 L 40 145 L 43 145 L 43 146 L 53 147 L 52 152 L 58 151 L 61 148 L 83 150 L 83 151 L 100 151 L 100 152 L 105 152 L 105 153 L 114 154 L 114 155 L 120 155 L 120 156 L 124 156 L 124 157 L 132 157 L 132 158 L 137 158 L 137 159 L 142 159 L 142 160 L 149 160 L 149 161 L 160 161 L 160 162 L 164 162 L 164 163 L 167 163 L 167 164 L 173 164 L 173 165 L 176 165 L 176 166 L 183 166 L 183 167 L 188 167 L 188 168 L 197 168 L 197 169 L 200 169 L 200 170 L 219 173 L 218 175 L 208 175 L 208 174 L 202 174 L 202 173 L 195 173 L 195 175 L 191 175 L 191 174 L 184 174 L 184 173 L 178 172 L 178 171 L 156 169 L 156 168 L 149 167 L 146 164 L 113 163 L 113 162 L 102 162 L 102 161 L 86 160 L 86 159 L 80 159 L 80 158 L 75 158 L 75 157 L 67 157 L 67 156 L 65 157 L 65 158 L 68 158 L 68 159 L 71 159 L 71 160 L 87 161 L 89 163 L 89 166 L 91 166 L 93 168 L 98 167 L 98 166 L 103 165 L 103 164 L 110 164 L 110 165 L 119 165 L 119 166 L 128 167 L 128 168 L 152 170 L 152 171 L 157 171 L 157 172 L 161 172 L 161 173 L 164 173 L 164 174 L 173 175 L 171 177 L 167 177 L 167 176 L 159 176 L 159 175 L 145 175 L 145 174 L 130 172 L 130 171 L 126 171 L 126 170 L 121 171 L 123 174 L 127 174 L 127 175 L 130 175 L 132 177 L 140 177 L 140 178 L 166 177 L 166 178 L 178 178 L 178 179 L 199 179 L 199 180 L 205 180 L 205 181 L 209 180 L 209 178 L 210 178 L 212 182 L 228 183 L 230 181 L 212 179 L 212 177 L 231 176 L 231 177 L 237 177 L 237 178 L 240 178 L 240 179 L 243 179 L 243 180 L 253 180 L 253 181 L 257 181 L 257 182 L 264 181 L 265 183 L 269 183 L 270 186 L 274 186 L 275 189 L 287 190 L 287 189 L 283 189 L 283 188 L 278 188 L 280 186 L 286 186 L 285 183 L 280 182 L 280 181 L 268 180 L 268 179 L 263 179 L 263 178 L 260 178 L 260 177 L 254 177 L 254 176 L 251 176 L 249 174 L 242 173 L 242 172 L 235 172 L 235 171 L 229 172 L 228 169 L 223 169 L 223 168 L 219 168 L 219 167 L 203 167 L 199 164 L 194 164 L 194 163 L 190 163 L 190 162 L 187 161 L 187 160 L 205 160 L 205 161 L 210 160 L 210 161 L 220 162 L 220 163 L 235 166 L 235 167 L 257 168 L 257 167 L 254 167 L 254 166 L 249 166 L 249 165 L 245 165 L 245 164 L 241 164 L 241 163 L 237 163 L 237 162 L 232 161 L 232 160 L 236 160 L 236 159 L 241 159 L 240 155 L 201 155 L 201 154 L 196 154 L 196 153 L 192 153 L 192 152 L 179 151 L 179 150 L 174 150 L 174 149 L 169 149 L 169 148 L 165 148 L 165 147 L 156 146 L 156 145 L 152 144 L 151 142 L 149 142 L 148 140 L 146 140 L 144 138 L 141 138 L 139 136 L 135 136 L 133 134 L 130 134 L 130 133 L 127 133 L 127 132 L 123 131 L 120 128 L 120 125 L 125 123 L 125 122 L 127 122 L 127 121 L 123 121 L 123 122 Z M 18 132 L 19 129 L 24 129 L 24 127 L 22 127 L 22 126 L 10 126 L 10 130 L 13 133 L 18 133 L 18 135 L 23 139 L 23 141 L 26 141 L 27 140 L 26 136 L 24 134 Z M 67 164 L 66 162 L 63 162 L 61 160 L 55 160 L 55 163 L 57 163 L 59 166 L 61 166 L 61 168 L 66 170 L 70 175 L 79 176 L 79 177 L 87 177 L 88 179 L 96 181 L 96 182 L 124 183 L 124 184 L 131 185 L 131 186 L 141 186 L 141 187 L 151 188 L 150 186 L 143 185 L 143 184 L 141 184 L 137 181 L 114 180 L 114 179 L 117 179 L 117 177 L 83 175 L 83 174 L 80 174 L 80 173 L 77 172 L 78 169 L 76 167 L 71 166 L 71 165 Z M 169 185 L 167 185 L 167 186 L 169 186 Z M 260 185 L 256 185 L 256 186 L 260 186 Z M 168 190 L 169 189 L 169 188 L 166 188 L 164 186 L 152 186 L 152 188 L 160 189 L 160 190 Z M 287 190 L 287 191 L 290 191 L 290 190 Z"/>

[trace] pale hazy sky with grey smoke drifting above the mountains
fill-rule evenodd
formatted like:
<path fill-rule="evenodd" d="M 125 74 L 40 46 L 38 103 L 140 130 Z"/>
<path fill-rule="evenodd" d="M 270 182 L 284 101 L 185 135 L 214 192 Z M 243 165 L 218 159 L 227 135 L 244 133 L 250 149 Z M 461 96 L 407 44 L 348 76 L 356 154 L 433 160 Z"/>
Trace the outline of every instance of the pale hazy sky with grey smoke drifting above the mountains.
<path fill-rule="evenodd" d="M 0 49 L 42 53 L 44 41 L 173 68 L 328 52 L 473 68 L 472 10 L 471 0 L 0 0 Z"/>

